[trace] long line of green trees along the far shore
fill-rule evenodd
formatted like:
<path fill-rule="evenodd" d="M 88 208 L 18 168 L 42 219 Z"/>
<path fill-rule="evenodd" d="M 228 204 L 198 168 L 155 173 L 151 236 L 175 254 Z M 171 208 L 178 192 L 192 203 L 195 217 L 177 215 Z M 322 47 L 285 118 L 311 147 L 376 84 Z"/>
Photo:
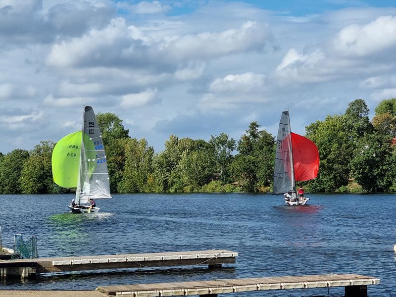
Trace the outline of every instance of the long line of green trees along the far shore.
<path fill-rule="evenodd" d="M 365 101 L 356 99 L 344 114 L 305 127 L 320 167 L 318 177 L 302 186 L 311 192 L 396 192 L 396 99 L 381 101 L 371 122 L 368 114 Z M 155 152 L 146 139 L 131 138 L 117 115 L 98 113 L 97 120 L 112 193 L 272 191 L 275 138 L 257 122 L 238 141 L 225 133 L 209 141 L 171 135 Z M 31 151 L 0 152 L 0 193 L 60 191 L 52 182 L 54 145 L 41 141 Z"/>

